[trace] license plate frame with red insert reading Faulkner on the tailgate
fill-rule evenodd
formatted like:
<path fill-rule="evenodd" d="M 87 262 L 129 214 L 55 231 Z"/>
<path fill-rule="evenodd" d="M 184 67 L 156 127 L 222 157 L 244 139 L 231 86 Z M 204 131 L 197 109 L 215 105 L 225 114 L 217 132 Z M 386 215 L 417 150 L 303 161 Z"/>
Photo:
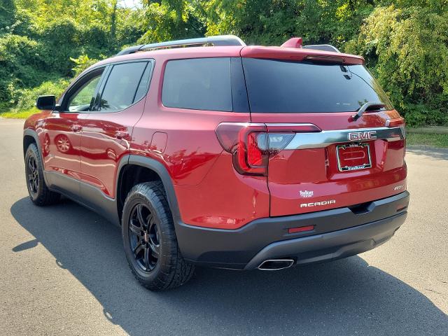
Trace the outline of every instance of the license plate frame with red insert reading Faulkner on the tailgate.
<path fill-rule="evenodd" d="M 337 145 L 336 157 L 339 172 L 372 168 L 370 145 L 366 143 Z"/>

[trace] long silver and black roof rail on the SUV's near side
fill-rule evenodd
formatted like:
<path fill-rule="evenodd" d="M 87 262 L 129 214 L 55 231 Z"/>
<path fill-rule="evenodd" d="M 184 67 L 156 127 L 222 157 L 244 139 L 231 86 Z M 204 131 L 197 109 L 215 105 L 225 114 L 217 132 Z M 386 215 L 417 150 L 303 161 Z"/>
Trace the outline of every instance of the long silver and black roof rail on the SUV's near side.
<path fill-rule="evenodd" d="M 223 46 L 223 45 L 241 45 L 246 46 L 246 43 L 241 41 L 241 38 L 235 35 L 217 35 L 201 38 L 188 38 L 186 40 L 167 41 L 160 43 L 150 43 L 134 45 L 118 52 L 116 56 L 133 54 L 139 51 L 148 51 L 165 48 L 183 48 L 183 47 L 202 47 L 202 46 Z"/>

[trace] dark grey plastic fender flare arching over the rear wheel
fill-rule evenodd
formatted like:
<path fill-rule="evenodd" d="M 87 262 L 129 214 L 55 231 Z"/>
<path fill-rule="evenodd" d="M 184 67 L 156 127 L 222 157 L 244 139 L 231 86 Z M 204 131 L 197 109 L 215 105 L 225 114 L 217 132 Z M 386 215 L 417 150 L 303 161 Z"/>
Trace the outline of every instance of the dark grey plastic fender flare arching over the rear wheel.
<path fill-rule="evenodd" d="M 119 195 L 118 188 L 120 188 L 122 170 L 123 167 L 125 167 L 126 165 L 137 165 L 141 167 L 146 167 L 148 169 L 153 170 L 156 174 L 158 174 L 165 188 L 165 194 L 167 195 L 169 209 L 171 209 L 174 222 L 176 222 L 176 217 L 181 216 L 181 213 L 179 211 L 179 204 L 177 202 L 176 192 L 174 191 L 172 178 L 171 175 L 169 175 L 167 168 L 164 165 L 162 165 L 162 163 L 160 163 L 158 160 L 152 158 L 147 158 L 141 155 L 134 155 L 134 154 L 123 156 L 123 158 L 121 158 L 120 160 L 120 163 L 118 164 L 118 172 L 117 172 L 118 179 L 116 181 L 117 197 Z"/>

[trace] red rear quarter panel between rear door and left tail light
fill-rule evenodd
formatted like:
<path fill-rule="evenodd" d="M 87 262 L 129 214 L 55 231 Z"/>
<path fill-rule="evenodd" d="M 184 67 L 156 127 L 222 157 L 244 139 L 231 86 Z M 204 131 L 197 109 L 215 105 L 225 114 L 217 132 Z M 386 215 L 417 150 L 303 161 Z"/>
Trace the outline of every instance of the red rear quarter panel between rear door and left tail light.
<path fill-rule="evenodd" d="M 216 56 L 233 57 L 235 52 L 220 52 Z M 155 57 L 153 81 L 144 115 L 134 127 L 131 153 L 153 158 L 165 166 L 174 184 L 183 223 L 232 229 L 269 216 L 266 178 L 235 172 L 232 156 L 223 153 L 215 133 L 219 123 L 250 122 L 250 114 L 163 106 L 160 78 L 172 58 L 169 54 Z M 155 132 L 166 134 L 163 152 L 157 141 L 153 142 Z M 160 139 L 160 135 L 155 139 Z"/>

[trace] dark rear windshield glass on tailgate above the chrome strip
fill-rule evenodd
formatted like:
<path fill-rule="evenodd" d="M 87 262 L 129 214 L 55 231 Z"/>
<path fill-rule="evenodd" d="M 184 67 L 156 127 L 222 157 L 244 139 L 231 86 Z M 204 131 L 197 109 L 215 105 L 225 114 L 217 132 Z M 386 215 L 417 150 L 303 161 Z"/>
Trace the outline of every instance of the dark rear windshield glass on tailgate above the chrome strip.
<path fill-rule="evenodd" d="M 366 102 L 391 102 L 363 65 L 243 58 L 251 112 L 357 111 Z"/>

